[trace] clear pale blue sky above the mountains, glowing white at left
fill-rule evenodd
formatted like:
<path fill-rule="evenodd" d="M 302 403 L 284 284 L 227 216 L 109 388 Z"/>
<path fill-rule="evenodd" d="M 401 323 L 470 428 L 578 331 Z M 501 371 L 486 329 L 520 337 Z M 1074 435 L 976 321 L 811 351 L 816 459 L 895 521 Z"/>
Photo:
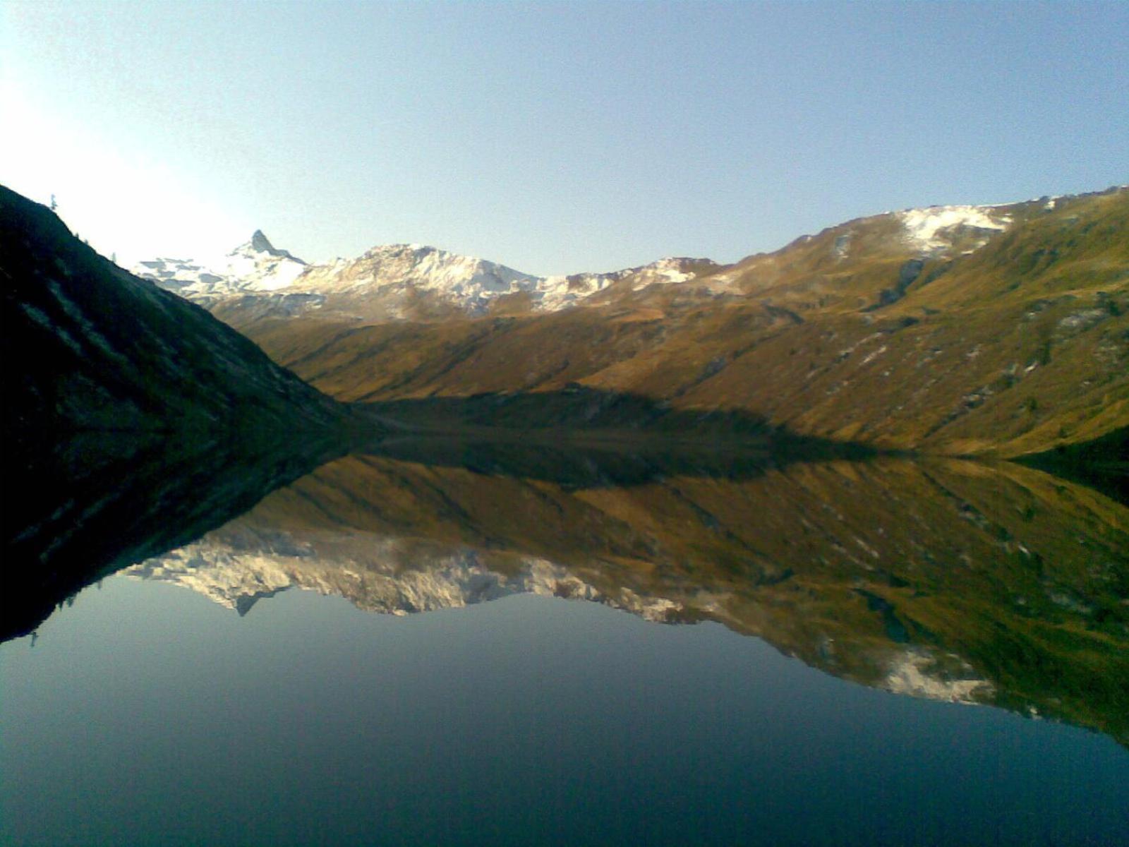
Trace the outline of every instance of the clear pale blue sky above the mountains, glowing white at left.
<path fill-rule="evenodd" d="M 1129 182 L 1127 2 L 0 0 L 0 182 L 126 261 L 733 261 Z"/>

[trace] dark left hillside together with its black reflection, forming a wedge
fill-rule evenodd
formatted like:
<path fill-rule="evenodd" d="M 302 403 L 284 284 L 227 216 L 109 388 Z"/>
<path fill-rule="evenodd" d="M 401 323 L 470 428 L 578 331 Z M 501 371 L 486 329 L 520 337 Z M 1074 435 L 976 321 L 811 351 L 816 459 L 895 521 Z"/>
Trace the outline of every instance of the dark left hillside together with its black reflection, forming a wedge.
<path fill-rule="evenodd" d="M 27 631 L 82 585 L 229 519 L 338 449 L 345 407 L 3 187 L 0 286 L 0 635 Z"/>

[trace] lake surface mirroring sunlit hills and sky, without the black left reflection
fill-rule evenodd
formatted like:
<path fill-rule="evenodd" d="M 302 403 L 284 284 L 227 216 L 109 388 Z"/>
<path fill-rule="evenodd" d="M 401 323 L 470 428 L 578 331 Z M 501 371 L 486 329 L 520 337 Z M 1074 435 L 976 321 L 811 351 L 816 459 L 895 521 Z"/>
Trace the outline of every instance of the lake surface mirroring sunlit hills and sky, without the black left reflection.
<path fill-rule="evenodd" d="M 1112 844 L 1127 551 L 1015 465 L 387 444 L 0 647 L 0 840 Z"/>

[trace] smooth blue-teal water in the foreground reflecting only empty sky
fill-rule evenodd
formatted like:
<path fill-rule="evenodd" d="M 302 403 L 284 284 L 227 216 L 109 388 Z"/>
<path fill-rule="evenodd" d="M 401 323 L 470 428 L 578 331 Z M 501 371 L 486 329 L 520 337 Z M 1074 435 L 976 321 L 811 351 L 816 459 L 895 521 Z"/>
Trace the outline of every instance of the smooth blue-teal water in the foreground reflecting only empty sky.
<path fill-rule="evenodd" d="M 246 618 L 117 576 L 3 648 L 38 844 L 1117 844 L 1129 754 L 539 596 Z"/>

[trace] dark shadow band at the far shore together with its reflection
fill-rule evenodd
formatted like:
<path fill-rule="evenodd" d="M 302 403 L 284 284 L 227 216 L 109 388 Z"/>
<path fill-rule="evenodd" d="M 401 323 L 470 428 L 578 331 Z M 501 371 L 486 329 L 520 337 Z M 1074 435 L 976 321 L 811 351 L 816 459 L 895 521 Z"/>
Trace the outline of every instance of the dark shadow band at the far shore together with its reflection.
<path fill-rule="evenodd" d="M 752 479 L 795 462 L 865 461 L 881 453 L 797 435 L 741 410 L 672 409 L 638 394 L 585 386 L 353 408 L 400 434 L 359 445 L 357 453 L 570 489 L 639 486 L 674 475 Z"/>

